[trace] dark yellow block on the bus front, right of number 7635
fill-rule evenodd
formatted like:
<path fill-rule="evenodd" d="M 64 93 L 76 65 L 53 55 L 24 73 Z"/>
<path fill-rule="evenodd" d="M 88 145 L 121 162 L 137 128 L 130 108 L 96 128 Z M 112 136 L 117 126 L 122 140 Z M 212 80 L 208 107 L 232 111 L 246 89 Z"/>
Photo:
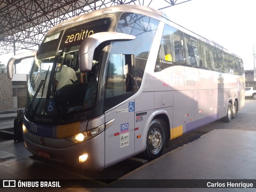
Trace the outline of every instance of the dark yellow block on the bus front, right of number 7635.
<path fill-rule="evenodd" d="M 64 138 L 80 133 L 80 121 L 76 123 L 70 123 L 68 125 L 59 125 L 56 128 L 56 137 Z"/>

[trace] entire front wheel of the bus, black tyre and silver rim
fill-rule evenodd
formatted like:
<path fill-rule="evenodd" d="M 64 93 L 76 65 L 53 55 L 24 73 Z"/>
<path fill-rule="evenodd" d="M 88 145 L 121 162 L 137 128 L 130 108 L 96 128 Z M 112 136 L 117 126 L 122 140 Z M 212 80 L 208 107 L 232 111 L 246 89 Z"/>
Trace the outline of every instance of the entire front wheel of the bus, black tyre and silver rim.
<path fill-rule="evenodd" d="M 158 119 L 153 119 L 148 129 L 145 155 L 148 160 L 159 157 L 165 145 L 164 127 Z"/>

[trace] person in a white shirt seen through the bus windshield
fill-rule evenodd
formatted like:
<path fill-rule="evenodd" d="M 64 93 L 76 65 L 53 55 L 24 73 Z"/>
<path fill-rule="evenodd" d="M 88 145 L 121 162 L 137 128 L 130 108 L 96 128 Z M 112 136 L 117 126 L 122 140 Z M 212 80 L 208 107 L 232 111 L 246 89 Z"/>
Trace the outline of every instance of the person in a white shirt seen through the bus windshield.
<path fill-rule="evenodd" d="M 60 62 L 58 63 L 57 67 L 58 68 L 55 77 L 55 87 L 57 91 L 65 85 L 73 84 L 73 82 L 77 81 L 76 72 L 74 69 L 68 67 L 65 64 L 63 64 L 61 67 Z"/>

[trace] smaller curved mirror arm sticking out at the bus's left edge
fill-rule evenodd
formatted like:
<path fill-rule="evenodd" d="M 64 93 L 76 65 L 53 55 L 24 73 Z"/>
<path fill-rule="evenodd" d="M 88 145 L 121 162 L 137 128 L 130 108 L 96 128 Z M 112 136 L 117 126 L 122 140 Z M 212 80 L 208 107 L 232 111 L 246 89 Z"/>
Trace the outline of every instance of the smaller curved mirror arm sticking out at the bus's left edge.
<path fill-rule="evenodd" d="M 13 66 L 14 64 L 20 63 L 22 59 L 27 59 L 30 57 L 35 57 L 36 51 L 29 51 L 25 53 L 19 53 L 17 55 L 14 55 L 12 58 L 9 59 L 7 63 L 7 75 L 9 79 L 12 79 L 13 77 Z"/>

